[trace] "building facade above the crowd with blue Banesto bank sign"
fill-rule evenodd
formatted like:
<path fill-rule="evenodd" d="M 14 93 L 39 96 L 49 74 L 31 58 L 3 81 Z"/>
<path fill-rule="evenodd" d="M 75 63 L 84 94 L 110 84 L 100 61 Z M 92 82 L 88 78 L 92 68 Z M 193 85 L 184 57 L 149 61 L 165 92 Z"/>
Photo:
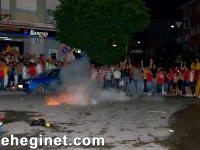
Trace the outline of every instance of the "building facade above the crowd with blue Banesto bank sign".
<path fill-rule="evenodd" d="M 61 43 L 55 40 L 56 29 L 53 12 L 60 2 L 58 0 L 1 0 L 0 26 L 13 24 L 20 30 L 13 33 L 1 31 L 1 49 L 9 44 L 24 54 L 44 53 L 47 58 L 60 54 Z M 2 17 L 1 17 L 2 18 Z"/>

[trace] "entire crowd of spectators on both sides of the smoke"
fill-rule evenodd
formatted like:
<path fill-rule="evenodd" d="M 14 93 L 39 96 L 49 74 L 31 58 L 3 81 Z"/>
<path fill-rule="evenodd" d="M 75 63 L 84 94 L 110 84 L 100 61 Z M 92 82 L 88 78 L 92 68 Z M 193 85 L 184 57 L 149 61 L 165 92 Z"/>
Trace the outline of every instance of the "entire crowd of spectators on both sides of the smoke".
<path fill-rule="evenodd" d="M 17 90 L 22 79 L 37 76 L 48 69 L 61 68 L 63 62 L 56 58 L 45 59 L 44 54 L 37 58 L 35 54 L 0 53 L 0 90 Z M 152 59 L 149 65 L 134 66 L 125 59 L 116 66 L 95 66 L 91 68 L 91 79 L 96 80 L 101 89 L 116 89 L 127 95 L 159 94 L 175 97 L 200 98 L 200 63 L 196 59 L 187 65 L 164 69 L 156 66 Z"/>

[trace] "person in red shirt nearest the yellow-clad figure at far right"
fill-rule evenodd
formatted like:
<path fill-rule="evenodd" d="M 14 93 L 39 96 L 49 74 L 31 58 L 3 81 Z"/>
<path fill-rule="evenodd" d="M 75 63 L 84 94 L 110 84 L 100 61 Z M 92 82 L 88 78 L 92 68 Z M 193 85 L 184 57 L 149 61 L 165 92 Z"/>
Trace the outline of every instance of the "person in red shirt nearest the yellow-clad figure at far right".
<path fill-rule="evenodd" d="M 184 76 L 184 86 L 185 86 L 185 92 L 186 95 L 185 96 L 189 96 L 190 95 L 190 70 L 188 69 L 188 67 L 185 67 L 185 71 L 183 72 L 183 76 Z"/>

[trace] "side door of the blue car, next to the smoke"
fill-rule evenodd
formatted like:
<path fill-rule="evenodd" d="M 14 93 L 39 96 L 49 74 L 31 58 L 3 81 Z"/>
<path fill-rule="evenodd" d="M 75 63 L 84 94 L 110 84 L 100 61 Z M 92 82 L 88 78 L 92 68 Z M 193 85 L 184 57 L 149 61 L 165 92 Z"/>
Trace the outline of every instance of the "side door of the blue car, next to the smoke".
<path fill-rule="evenodd" d="M 61 85 L 59 73 L 60 73 L 60 70 L 56 69 L 48 76 L 48 87 L 47 87 L 47 89 L 49 91 L 55 91 L 55 90 L 59 89 L 59 87 Z"/>

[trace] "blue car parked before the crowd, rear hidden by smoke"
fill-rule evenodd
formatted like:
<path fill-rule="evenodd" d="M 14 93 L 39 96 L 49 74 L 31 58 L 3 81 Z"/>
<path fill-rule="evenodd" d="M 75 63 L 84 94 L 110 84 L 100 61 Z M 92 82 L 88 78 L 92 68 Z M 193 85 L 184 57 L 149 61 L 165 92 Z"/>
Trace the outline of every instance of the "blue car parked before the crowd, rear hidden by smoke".
<path fill-rule="evenodd" d="M 19 82 L 18 89 L 35 92 L 39 95 L 43 95 L 46 90 L 55 91 L 61 85 L 59 73 L 60 69 L 50 69 L 38 76 L 23 79 Z"/>

